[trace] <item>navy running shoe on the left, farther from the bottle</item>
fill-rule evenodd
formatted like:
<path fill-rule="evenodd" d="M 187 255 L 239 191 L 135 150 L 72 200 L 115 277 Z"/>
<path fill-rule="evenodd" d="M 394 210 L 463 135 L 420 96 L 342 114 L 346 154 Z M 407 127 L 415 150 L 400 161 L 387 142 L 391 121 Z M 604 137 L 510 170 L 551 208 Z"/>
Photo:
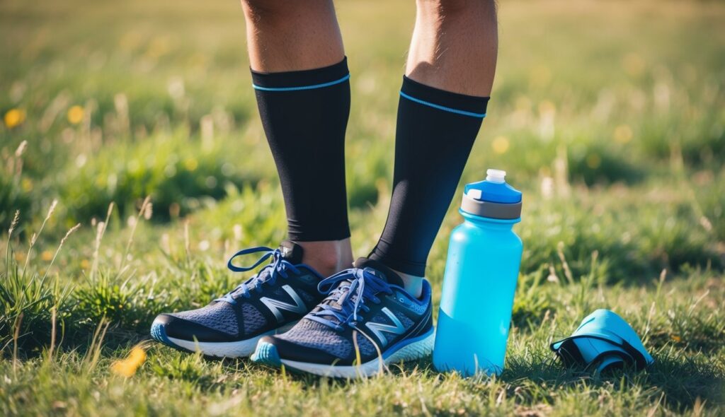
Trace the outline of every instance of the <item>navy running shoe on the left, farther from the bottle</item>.
<path fill-rule="evenodd" d="M 232 264 L 237 256 L 251 253 L 264 254 L 249 267 Z M 151 327 L 152 337 L 179 350 L 237 358 L 251 355 L 261 337 L 290 329 L 323 299 L 317 289 L 323 277 L 302 264 L 302 247 L 289 240 L 278 249 L 240 250 L 229 259 L 228 267 L 249 271 L 267 259 L 270 263 L 254 277 L 208 306 L 159 314 Z"/>

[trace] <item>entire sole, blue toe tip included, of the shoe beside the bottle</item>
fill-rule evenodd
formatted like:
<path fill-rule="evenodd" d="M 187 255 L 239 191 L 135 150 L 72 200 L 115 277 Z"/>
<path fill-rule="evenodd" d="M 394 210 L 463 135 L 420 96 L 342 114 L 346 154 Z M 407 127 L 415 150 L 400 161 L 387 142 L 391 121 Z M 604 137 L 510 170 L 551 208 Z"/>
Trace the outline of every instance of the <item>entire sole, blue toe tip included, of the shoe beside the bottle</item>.
<path fill-rule="evenodd" d="M 277 347 L 268 342 L 260 342 L 251 359 L 254 362 L 264 363 L 269 366 L 285 366 L 285 368 L 291 371 L 330 376 L 333 378 L 356 379 L 376 375 L 391 363 L 415 361 L 416 359 L 424 358 L 433 352 L 434 342 L 434 329 L 413 339 L 399 342 L 397 347 L 390 348 L 383 354 L 383 366 L 381 366 L 381 358 L 379 356 L 359 366 L 323 365 L 320 363 L 290 361 L 280 358 Z"/>

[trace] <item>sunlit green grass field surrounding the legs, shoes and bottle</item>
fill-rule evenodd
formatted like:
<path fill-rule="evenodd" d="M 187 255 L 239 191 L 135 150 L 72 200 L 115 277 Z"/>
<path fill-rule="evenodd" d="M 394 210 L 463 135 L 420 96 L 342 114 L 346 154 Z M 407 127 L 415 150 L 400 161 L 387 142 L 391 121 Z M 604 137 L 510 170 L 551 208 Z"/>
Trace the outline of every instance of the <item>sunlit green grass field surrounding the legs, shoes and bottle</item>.
<path fill-rule="evenodd" d="M 414 3 L 338 12 L 360 256 L 387 212 Z M 723 22 L 714 1 L 502 1 L 462 183 L 497 167 L 525 193 L 507 368 L 462 379 L 426 359 L 346 382 L 149 341 L 157 313 L 244 279 L 234 250 L 284 237 L 239 4 L 1 1 L 0 415 L 725 415 Z M 457 203 L 431 251 L 436 303 Z M 555 361 L 548 344 L 595 308 L 655 364 Z M 114 371 L 139 344 L 145 361 Z"/>

